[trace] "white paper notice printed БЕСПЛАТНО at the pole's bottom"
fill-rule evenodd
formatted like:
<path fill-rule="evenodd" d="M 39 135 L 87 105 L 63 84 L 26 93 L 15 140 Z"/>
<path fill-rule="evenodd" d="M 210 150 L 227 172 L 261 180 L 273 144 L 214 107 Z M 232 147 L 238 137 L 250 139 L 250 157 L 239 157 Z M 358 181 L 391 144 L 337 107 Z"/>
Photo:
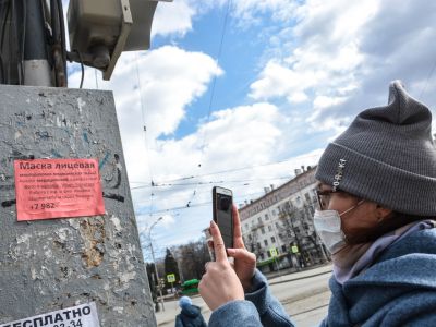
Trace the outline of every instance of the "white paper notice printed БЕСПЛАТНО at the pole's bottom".
<path fill-rule="evenodd" d="M 0 327 L 100 327 L 95 302 L 53 311 L 39 316 L 0 325 Z"/>

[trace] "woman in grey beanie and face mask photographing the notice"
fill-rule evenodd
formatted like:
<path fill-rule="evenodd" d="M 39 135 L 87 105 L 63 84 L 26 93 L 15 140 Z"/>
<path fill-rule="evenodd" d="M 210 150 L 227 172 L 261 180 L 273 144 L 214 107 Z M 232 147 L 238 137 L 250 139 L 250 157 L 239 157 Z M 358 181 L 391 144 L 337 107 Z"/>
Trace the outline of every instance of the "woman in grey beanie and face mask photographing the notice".
<path fill-rule="evenodd" d="M 317 233 L 332 254 L 322 326 L 436 326 L 436 149 L 432 114 L 399 81 L 387 106 L 362 111 L 324 152 L 316 171 Z M 234 209 L 230 266 L 217 226 L 217 261 L 199 291 L 209 326 L 293 326 L 255 269 Z"/>

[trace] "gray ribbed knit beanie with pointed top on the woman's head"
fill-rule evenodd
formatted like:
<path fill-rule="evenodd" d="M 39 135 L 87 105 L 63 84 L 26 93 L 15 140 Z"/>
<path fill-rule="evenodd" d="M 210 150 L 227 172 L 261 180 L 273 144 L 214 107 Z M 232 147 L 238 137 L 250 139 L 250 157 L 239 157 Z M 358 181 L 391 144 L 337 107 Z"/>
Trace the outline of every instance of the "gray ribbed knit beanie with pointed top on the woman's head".
<path fill-rule="evenodd" d="M 388 105 L 362 111 L 327 146 L 315 178 L 398 213 L 436 216 L 431 111 L 392 82 Z"/>

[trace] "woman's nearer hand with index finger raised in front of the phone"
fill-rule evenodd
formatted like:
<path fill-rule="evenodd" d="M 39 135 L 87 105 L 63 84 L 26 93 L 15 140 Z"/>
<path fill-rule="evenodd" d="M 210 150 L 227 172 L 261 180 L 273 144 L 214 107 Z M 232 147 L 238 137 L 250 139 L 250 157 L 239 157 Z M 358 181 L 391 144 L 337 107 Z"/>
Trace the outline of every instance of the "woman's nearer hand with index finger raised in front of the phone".
<path fill-rule="evenodd" d="M 230 301 L 244 300 L 244 290 L 226 255 L 218 226 L 210 221 L 216 262 L 206 264 L 206 274 L 198 284 L 199 294 L 211 311 Z"/>

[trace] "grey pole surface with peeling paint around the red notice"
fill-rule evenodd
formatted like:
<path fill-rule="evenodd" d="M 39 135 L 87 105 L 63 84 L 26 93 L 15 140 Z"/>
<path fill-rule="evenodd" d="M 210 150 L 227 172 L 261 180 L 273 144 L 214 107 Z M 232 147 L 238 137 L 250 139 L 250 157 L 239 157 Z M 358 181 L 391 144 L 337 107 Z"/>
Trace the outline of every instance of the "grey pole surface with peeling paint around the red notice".
<path fill-rule="evenodd" d="M 95 302 L 156 326 L 110 92 L 0 85 L 0 324 Z M 98 158 L 106 214 L 16 221 L 13 161 Z"/>

